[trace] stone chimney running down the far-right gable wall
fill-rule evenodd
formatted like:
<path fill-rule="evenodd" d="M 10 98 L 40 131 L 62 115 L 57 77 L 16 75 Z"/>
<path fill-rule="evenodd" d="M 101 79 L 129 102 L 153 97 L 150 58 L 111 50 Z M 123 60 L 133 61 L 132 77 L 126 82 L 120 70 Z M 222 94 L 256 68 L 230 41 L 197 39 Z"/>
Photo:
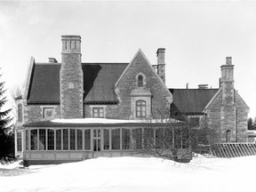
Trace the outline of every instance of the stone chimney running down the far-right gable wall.
<path fill-rule="evenodd" d="M 234 65 L 232 58 L 226 58 L 226 64 L 221 66 L 220 89 L 222 105 L 220 107 L 221 142 L 236 141 L 236 105 L 234 92 Z"/>

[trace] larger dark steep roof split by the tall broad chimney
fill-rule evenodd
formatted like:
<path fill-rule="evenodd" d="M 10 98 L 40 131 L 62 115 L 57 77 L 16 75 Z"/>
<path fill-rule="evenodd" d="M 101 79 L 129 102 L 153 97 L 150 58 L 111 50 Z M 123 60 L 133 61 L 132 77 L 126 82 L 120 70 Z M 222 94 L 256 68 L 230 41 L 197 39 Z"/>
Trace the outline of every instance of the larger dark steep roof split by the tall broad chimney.
<path fill-rule="evenodd" d="M 128 63 L 82 63 L 84 102 L 117 102 L 114 87 Z M 60 103 L 60 63 L 36 63 L 28 88 L 28 104 Z"/>

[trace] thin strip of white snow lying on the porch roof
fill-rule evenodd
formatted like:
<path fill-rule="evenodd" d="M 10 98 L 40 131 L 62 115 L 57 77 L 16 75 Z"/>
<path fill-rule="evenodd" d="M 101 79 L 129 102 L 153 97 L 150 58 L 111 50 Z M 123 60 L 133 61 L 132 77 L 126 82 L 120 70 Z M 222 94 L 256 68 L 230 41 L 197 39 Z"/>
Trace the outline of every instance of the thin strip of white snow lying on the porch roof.
<path fill-rule="evenodd" d="M 171 123 L 179 122 L 175 119 L 150 119 L 150 120 L 128 120 L 128 119 L 106 119 L 106 118 L 77 118 L 77 119 L 53 119 L 52 123 L 62 124 L 129 124 L 129 123 Z"/>

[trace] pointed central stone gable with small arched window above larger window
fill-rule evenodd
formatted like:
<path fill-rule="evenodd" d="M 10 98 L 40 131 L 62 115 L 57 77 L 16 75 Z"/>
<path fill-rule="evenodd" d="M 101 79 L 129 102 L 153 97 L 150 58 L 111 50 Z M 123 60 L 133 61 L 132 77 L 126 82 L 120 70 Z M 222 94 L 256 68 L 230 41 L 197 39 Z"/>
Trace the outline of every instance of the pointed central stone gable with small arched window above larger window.
<path fill-rule="evenodd" d="M 143 85 L 139 84 L 139 76 L 143 79 Z M 135 118 L 136 100 L 146 101 L 150 108 L 147 114 L 153 118 L 169 114 L 172 93 L 140 50 L 116 82 L 115 92 L 120 102 L 118 111 L 124 118 Z"/>

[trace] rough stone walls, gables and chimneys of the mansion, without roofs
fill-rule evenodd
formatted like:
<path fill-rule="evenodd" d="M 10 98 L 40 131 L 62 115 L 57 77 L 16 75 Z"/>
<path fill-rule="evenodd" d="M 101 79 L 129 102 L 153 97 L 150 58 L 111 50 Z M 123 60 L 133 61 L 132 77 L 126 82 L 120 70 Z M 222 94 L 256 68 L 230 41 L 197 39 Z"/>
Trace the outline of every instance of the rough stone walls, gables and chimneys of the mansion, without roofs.
<path fill-rule="evenodd" d="M 60 104 L 28 105 L 30 76 L 33 74 L 32 68 L 35 65 L 35 60 L 31 59 L 25 93 L 21 100 L 17 100 L 17 105 L 22 103 L 23 106 L 23 121 L 17 122 L 18 129 L 21 129 L 22 124 L 36 123 L 52 118 L 91 118 L 94 107 L 104 108 L 104 118 L 107 119 L 140 119 L 136 116 L 138 100 L 146 101 L 146 118 L 169 117 L 172 93 L 164 84 L 164 48 L 160 48 L 156 52 L 157 72 L 143 52 L 138 51 L 135 54 L 116 84 L 113 84 L 118 99 L 117 103 L 89 105 L 83 102 L 83 89 L 86 82 L 83 82 L 80 44 L 80 36 L 62 36 Z M 198 115 L 201 122 L 205 123 L 206 121 L 214 130 L 215 142 L 247 141 L 249 108 L 234 89 L 233 71 L 232 60 L 227 58 L 226 64 L 221 66 L 220 90 L 202 111 L 204 116 Z M 142 84 L 139 84 L 139 76 L 142 78 Z M 50 118 L 44 117 L 44 108 L 53 108 L 53 115 Z"/>

